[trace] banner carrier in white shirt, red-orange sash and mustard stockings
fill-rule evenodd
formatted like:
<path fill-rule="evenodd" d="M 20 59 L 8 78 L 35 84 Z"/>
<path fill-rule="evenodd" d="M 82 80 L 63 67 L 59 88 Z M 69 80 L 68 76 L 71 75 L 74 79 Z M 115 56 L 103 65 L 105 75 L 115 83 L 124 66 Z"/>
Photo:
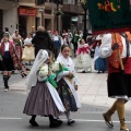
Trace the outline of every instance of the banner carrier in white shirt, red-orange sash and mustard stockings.
<path fill-rule="evenodd" d="M 105 34 L 99 47 L 99 57 L 108 57 L 108 96 L 117 98 L 112 107 L 104 114 L 108 127 L 114 127 L 111 115 L 117 110 L 120 120 L 120 131 L 131 131 L 124 121 L 124 104 L 131 99 L 131 34 Z M 118 57 L 118 51 L 120 55 Z M 120 60 L 123 69 L 121 71 Z"/>

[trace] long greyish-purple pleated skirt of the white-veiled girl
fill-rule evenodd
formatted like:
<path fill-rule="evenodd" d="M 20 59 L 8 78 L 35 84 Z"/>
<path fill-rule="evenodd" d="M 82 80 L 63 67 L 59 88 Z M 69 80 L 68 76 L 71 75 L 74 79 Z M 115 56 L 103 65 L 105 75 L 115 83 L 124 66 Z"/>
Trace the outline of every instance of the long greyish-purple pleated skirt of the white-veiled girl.
<path fill-rule="evenodd" d="M 23 112 L 29 116 L 59 116 L 59 110 L 46 83 L 37 82 L 36 86 L 32 87 Z"/>

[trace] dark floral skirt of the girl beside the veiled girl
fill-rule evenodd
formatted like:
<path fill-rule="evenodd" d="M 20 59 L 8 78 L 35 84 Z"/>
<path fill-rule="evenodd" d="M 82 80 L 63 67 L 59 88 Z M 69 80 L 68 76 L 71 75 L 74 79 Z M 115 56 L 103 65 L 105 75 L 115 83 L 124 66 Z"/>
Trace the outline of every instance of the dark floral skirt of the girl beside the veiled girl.
<path fill-rule="evenodd" d="M 78 111 L 74 96 L 63 79 L 58 82 L 58 94 L 62 100 L 62 104 L 68 111 Z"/>

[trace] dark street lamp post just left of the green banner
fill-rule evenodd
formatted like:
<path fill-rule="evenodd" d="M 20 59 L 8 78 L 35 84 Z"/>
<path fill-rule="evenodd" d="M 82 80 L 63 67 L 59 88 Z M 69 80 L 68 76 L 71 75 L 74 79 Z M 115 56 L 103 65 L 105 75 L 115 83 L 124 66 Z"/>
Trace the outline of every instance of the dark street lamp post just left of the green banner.
<path fill-rule="evenodd" d="M 86 15 L 87 15 L 87 0 L 81 0 L 81 5 L 84 10 L 84 32 L 83 32 L 83 38 L 86 41 L 86 35 L 87 35 L 87 26 L 86 26 Z"/>

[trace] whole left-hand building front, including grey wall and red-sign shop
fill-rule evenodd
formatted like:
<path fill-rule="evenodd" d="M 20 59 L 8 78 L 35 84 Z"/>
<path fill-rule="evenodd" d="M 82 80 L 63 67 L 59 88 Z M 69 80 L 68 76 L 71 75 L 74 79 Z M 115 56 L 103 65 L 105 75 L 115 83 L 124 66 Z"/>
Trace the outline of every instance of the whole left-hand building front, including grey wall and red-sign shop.
<path fill-rule="evenodd" d="M 37 26 L 43 25 L 48 31 L 57 29 L 57 0 L 1 0 L 0 1 L 0 32 L 8 27 L 13 34 L 20 31 L 23 37 Z M 59 9 L 62 8 L 62 0 Z M 59 28 L 61 20 L 59 19 Z"/>

